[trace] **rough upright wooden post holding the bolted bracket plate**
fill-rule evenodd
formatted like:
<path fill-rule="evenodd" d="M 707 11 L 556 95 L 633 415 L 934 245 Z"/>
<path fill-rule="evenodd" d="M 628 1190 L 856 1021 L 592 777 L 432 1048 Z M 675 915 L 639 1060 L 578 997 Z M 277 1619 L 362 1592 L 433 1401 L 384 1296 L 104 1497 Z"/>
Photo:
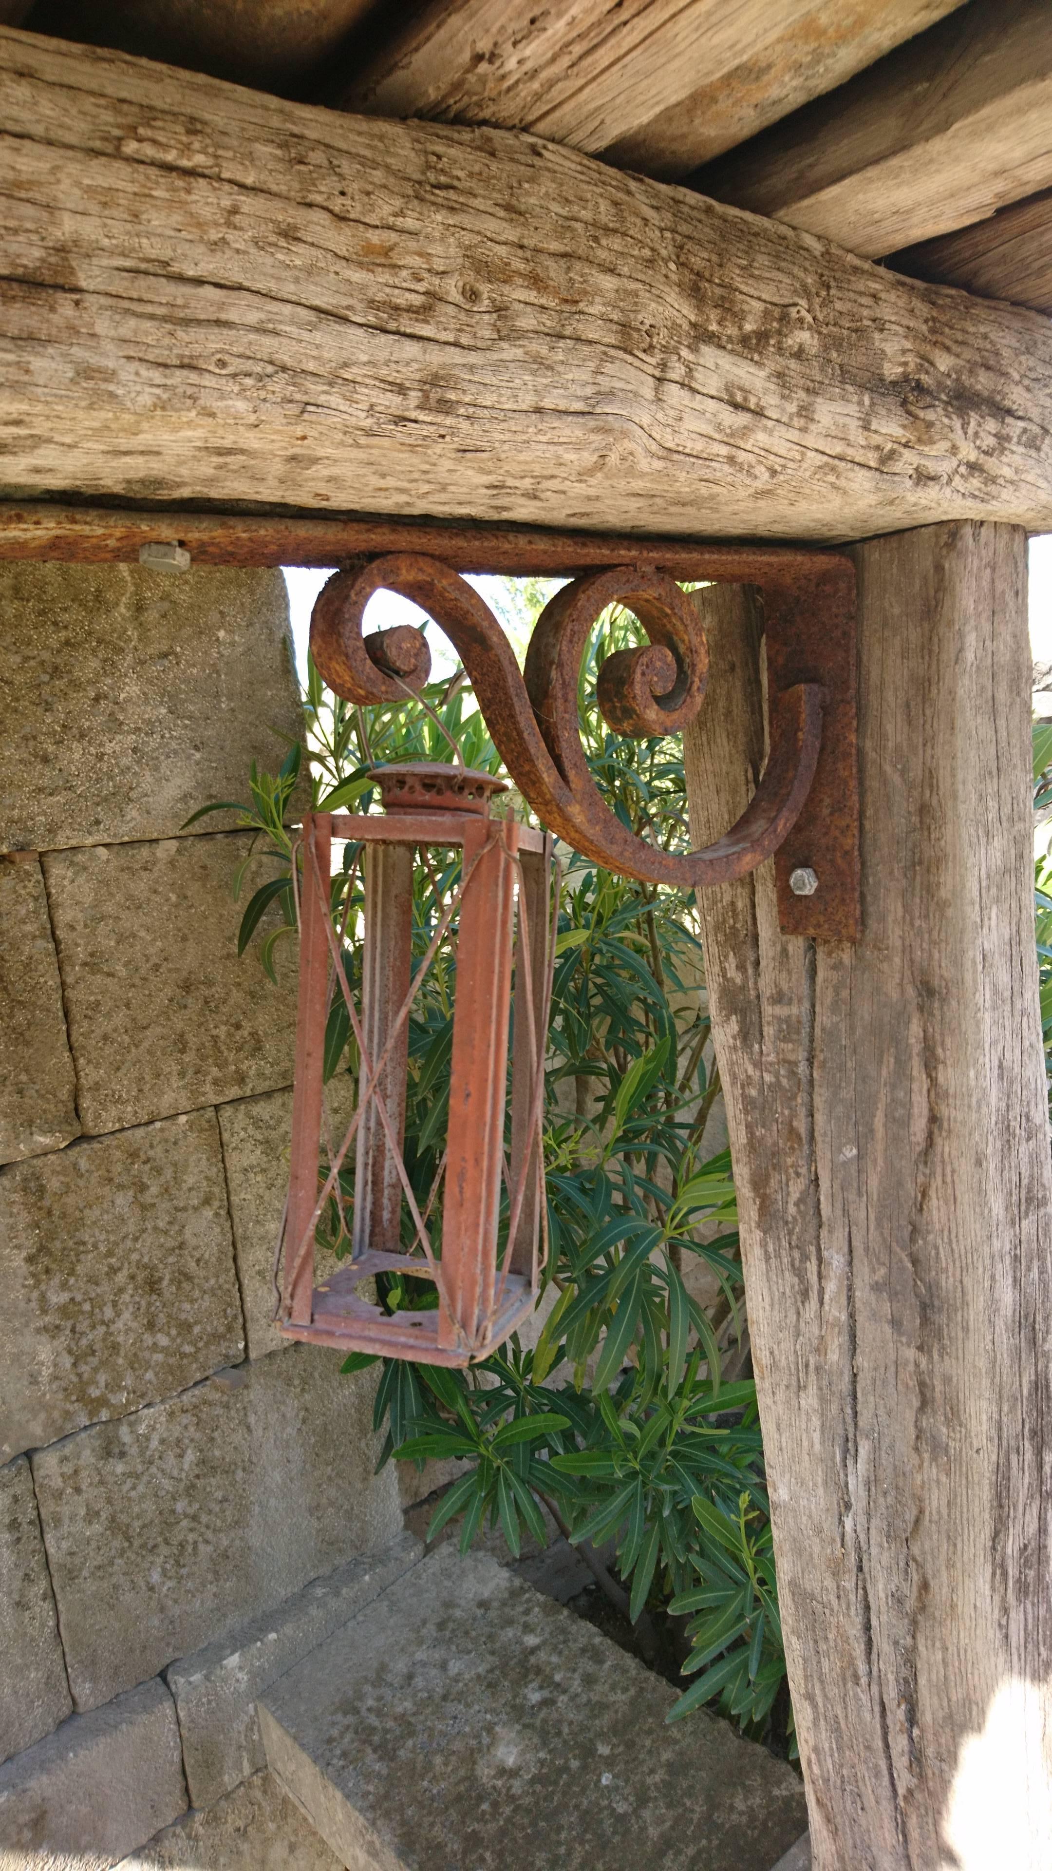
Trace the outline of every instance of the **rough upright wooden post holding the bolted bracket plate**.
<path fill-rule="evenodd" d="M 1050 1212 L 1026 541 L 855 548 L 865 936 L 706 892 L 816 1871 L 1052 1864 Z M 758 621 L 698 593 L 694 836 L 762 752 Z M 816 853 L 816 870 L 822 857 Z"/>

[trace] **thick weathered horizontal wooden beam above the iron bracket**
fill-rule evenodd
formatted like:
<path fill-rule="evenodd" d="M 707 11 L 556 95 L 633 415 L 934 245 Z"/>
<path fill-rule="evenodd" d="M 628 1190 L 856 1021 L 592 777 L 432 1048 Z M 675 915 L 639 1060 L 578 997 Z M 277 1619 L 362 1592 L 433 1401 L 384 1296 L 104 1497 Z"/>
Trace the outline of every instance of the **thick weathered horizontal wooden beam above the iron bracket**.
<path fill-rule="evenodd" d="M 1052 331 L 505 131 L 0 32 L 0 494 L 1052 528 Z"/>

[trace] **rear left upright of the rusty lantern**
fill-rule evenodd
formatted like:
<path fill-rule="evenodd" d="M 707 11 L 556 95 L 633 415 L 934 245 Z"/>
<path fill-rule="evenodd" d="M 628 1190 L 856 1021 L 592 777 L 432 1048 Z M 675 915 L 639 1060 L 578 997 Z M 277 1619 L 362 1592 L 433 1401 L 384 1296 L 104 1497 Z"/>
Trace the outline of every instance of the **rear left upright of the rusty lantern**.
<path fill-rule="evenodd" d="M 382 1059 L 412 975 L 410 844 L 374 844 L 365 853 L 365 939 L 361 952 L 361 1033 L 373 1066 Z M 410 1037 L 402 1022 L 376 1078 L 399 1151 L 406 1130 Z M 371 1098 L 358 1126 L 352 1250 L 397 1254 L 402 1182 L 391 1141 Z"/>

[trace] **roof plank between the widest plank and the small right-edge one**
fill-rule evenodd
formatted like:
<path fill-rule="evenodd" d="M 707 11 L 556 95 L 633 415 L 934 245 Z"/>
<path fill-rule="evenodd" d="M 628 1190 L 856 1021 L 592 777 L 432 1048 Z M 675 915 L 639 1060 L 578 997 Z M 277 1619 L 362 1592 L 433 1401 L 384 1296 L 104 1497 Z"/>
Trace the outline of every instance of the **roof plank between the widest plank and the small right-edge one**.
<path fill-rule="evenodd" d="M 972 0 L 694 183 L 889 254 L 1052 183 L 1052 7 Z"/>

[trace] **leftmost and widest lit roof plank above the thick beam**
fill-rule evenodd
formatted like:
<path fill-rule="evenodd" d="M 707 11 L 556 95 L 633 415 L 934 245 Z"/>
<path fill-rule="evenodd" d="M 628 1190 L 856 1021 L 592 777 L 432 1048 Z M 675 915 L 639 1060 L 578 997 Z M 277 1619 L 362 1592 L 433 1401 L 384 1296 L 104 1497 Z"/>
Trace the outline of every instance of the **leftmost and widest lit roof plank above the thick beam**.
<path fill-rule="evenodd" d="M 674 180 L 960 0 L 432 0 L 337 86 L 346 110 L 498 123 Z"/>

